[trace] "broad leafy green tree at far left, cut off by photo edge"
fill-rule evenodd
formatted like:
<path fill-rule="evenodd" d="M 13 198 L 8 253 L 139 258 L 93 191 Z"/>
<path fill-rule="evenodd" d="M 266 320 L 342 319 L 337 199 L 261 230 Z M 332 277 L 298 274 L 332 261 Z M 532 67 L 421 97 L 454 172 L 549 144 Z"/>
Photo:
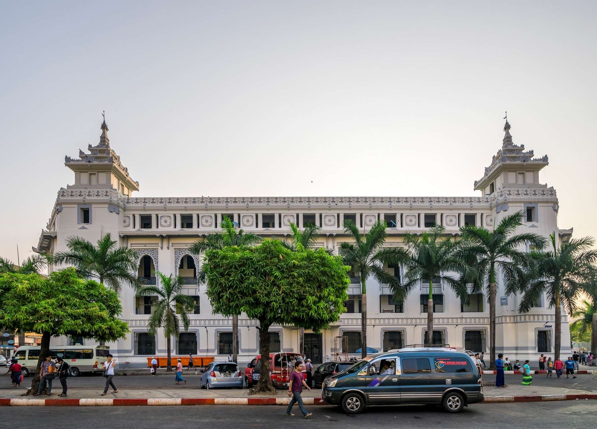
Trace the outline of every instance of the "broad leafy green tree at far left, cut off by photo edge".
<path fill-rule="evenodd" d="M 36 274 L 0 274 L 0 329 L 40 332 L 41 350 L 30 394 L 39 385 L 39 367 L 50 354 L 50 338 L 79 335 L 101 341 L 125 338 L 127 323 L 118 319 L 118 294 L 94 280 L 79 277 L 75 268 Z"/>

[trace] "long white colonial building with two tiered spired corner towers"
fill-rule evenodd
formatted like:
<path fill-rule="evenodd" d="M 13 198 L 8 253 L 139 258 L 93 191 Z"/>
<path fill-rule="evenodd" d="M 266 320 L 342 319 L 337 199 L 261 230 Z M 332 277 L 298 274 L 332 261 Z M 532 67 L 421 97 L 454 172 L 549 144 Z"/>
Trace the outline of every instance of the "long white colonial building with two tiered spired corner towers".
<path fill-rule="evenodd" d="M 65 165 L 74 173 L 73 184 L 58 192 L 47 230 L 43 230 L 36 252 L 65 250 L 68 236 L 81 236 L 96 242 L 101 234 L 117 237 L 121 246 L 139 255 L 139 277 L 155 283 L 155 270 L 178 274 L 185 279 L 184 293 L 192 295 L 196 307 L 188 332 L 173 338 L 174 354 L 200 354 L 224 357 L 232 350 L 232 321 L 213 314 L 205 285 L 197 285 L 201 258 L 188 251 L 198 237 L 219 230 L 224 216 L 232 218 L 247 232 L 285 237 L 290 223 L 321 226 L 321 246 L 337 252 L 338 243 L 348 240 L 343 221 L 352 219 L 363 231 L 377 220 L 386 220 L 387 246 L 402 245 L 405 233 L 421 233 L 433 224 L 458 234 L 466 224 L 492 229 L 507 214 L 524 210 L 526 219 L 518 232 L 534 232 L 545 237 L 555 232 L 559 242 L 570 239 L 572 230 L 558 228 L 558 197 L 553 187 L 541 184 L 539 172 L 548 164 L 547 156 L 533 158 L 523 145 L 512 143 L 510 125 L 504 126 L 501 149 L 475 181 L 476 196 L 262 196 L 262 197 L 137 197 L 139 183 L 129 175 L 121 159 L 110 147 L 105 121 L 100 142 L 79 150 L 79 158 L 66 156 Z M 528 250 L 528 249 L 526 249 Z M 56 267 L 50 267 L 50 270 Z M 402 268 L 386 267 L 396 275 Z M 395 303 L 389 289 L 368 279 L 368 345 L 389 350 L 406 344 L 420 344 L 426 335 L 429 286 L 420 285 L 407 300 Z M 353 353 L 361 347 L 361 286 L 352 283 L 347 291 L 347 313 L 321 334 L 307 331 L 305 351 L 313 362 L 334 358 L 336 337 L 347 337 L 346 348 Z M 471 297 L 463 305 L 454 292 L 441 282 L 433 286 L 436 342 L 457 348 L 488 352 L 489 311 L 487 297 Z M 120 365 L 145 366 L 146 358 L 166 353 L 164 335 L 147 333 L 146 323 L 155 303 L 152 297 L 136 298 L 124 286 L 121 292 L 122 319 L 130 328 L 125 340 L 110 344 Z M 498 291 L 497 351 L 510 359 L 526 359 L 540 353 L 553 353 L 554 310 L 543 300 L 527 314 L 516 310 L 519 297 Z M 565 312 L 563 312 L 565 314 Z M 249 362 L 259 353 L 257 322 L 239 317 L 239 362 Z M 272 351 L 298 351 L 299 329 L 272 327 Z M 80 339 L 53 339 L 65 344 Z M 567 316 L 562 316 L 562 354 L 568 353 L 570 335 Z"/>

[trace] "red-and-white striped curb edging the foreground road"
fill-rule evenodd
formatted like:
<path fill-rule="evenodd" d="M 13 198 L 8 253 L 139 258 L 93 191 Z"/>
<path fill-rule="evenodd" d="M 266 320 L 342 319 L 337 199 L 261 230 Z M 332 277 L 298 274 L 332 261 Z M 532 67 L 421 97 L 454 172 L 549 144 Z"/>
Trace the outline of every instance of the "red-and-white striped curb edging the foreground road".
<path fill-rule="evenodd" d="M 597 394 L 485 396 L 483 402 L 541 402 L 597 399 Z M 156 398 L 156 399 L 0 399 L 0 406 L 153 406 L 153 405 L 288 405 L 290 398 Z M 304 405 L 328 405 L 303 398 Z"/>

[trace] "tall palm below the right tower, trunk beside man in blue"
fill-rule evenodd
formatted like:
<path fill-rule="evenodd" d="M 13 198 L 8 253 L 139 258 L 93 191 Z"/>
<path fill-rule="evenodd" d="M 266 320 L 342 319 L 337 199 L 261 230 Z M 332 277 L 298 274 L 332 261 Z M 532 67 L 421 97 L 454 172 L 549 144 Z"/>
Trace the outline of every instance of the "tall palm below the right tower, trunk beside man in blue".
<path fill-rule="evenodd" d="M 470 279 L 475 286 L 473 291 L 485 289 L 489 302 L 490 318 L 490 368 L 496 366 L 496 297 L 497 276 L 502 275 L 504 290 L 512 294 L 524 284 L 529 260 L 519 246 L 530 243 L 538 249 L 543 248 L 545 239 L 537 234 L 524 233 L 513 235 L 516 228 L 522 225 L 522 211 L 504 217 L 493 231 L 482 226 L 463 226 L 460 231 L 468 245 L 463 248 L 464 258 L 475 263 L 477 276 Z"/>

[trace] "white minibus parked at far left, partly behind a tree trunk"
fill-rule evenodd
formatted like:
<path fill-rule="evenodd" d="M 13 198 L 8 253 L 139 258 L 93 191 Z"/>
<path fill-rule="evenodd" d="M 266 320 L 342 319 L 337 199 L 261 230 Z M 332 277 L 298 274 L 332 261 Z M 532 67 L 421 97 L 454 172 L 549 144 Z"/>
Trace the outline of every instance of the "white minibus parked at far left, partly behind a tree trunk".
<path fill-rule="evenodd" d="M 19 358 L 24 377 L 35 372 L 39 359 L 39 345 L 23 345 L 14 353 Z M 61 357 L 70 366 L 70 375 L 78 376 L 81 372 L 101 372 L 101 364 L 106 362 L 110 353 L 107 345 L 53 345 L 50 347 L 52 358 Z"/>

